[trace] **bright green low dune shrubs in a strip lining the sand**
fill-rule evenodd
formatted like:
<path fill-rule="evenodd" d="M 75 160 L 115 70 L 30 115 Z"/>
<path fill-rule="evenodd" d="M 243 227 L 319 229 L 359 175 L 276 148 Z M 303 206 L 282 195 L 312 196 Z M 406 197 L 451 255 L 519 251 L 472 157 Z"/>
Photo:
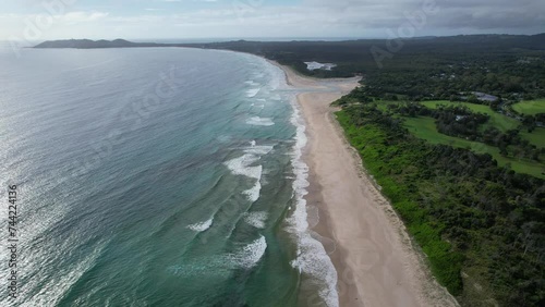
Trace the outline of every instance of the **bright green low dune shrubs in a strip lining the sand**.
<path fill-rule="evenodd" d="M 462 291 L 462 281 L 460 279 L 462 255 L 450 253 L 450 244 L 441 240 L 438 230 L 443 225 L 429 225 L 431 221 L 426 217 L 427 212 L 419 208 L 413 199 L 407 197 L 409 188 L 399 185 L 399 180 L 389 175 L 392 171 L 400 173 L 399 170 L 409 167 L 410 161 L 420 155 L 407 151 L 408 148 L 380 145 L 388 136 L 378 126 L 353 125 L 349 114 L 343 111 L 338 112 L 337 118 L 344 127 L 352 145 L 362 155 L 365 167 L 375 175 L 375 180 L 383 187 L 383 193 L 391 199 L 397 211 L 403 217 L 409 231 L 429 257 L 434 274 L 452 294 L 460 294 Z M 396 155 L 399 150 L 403 150 L 408 155 Z M 388 163 L 385 163 L 383 158 L 385 155 L 391 157 L 391 159 L 388 159 Z M 402 171 L 403 175 L 414 175 L 414 170 L 410 173 L 411 169 Z"/>

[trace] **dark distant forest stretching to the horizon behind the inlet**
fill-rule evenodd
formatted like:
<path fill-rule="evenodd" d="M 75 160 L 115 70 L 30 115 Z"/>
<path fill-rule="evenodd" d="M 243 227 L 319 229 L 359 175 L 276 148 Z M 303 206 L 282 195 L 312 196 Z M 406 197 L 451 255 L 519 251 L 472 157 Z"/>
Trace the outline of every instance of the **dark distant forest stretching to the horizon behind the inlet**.
<path fill-rule="evenodd" d="M 399 46 L 396 50 L 388 46 Z M 196 47 L 195 45 L 189 45 Z M 316 77 L 364 76 L 373 96 L 412 100 L 450 99 L 483 91 L 502 99 L 545 97 L 545 34 L 470 35 L 388 41 L 230 41 L 197 47 L 259 54 Z M 308 71 L 304 62 L 331 62 L 331 71 Z"/>

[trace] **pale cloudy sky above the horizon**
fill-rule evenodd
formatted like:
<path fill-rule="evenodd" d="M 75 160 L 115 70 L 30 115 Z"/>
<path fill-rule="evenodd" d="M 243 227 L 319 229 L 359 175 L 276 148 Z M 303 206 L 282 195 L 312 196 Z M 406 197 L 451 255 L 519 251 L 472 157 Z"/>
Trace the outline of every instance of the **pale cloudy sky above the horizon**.
<path fill-rule="evenodd" d="M 0 0 L 0 40 L 542 32 L 543 0 Z"/>

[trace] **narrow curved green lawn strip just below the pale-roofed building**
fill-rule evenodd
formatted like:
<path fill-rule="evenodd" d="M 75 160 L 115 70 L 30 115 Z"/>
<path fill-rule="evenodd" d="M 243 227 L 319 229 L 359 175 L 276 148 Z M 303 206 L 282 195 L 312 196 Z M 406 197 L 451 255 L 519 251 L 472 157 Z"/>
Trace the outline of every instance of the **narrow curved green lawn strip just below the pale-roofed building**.
<path fill-rule="evenodd" d="M 511 119 L 504 114 L 494 112 L 491 107 L 484 105 L 475 105 L 470 102 L 452 102 L 446 100 L 437 100 L 437 101 L 424 101 L 422 105 L 426 106 L 429 109 L 437 109 L 438 106 L 464 106 L 468 107 L 473 112 L 484 113 L 491 116 L 491 120 L 483 126 L 483 128 L 493 126 L 501 132 L 507 132 L 508 130 L 517 128 L 520 125 L 520 122 L 516 119 Z"/>

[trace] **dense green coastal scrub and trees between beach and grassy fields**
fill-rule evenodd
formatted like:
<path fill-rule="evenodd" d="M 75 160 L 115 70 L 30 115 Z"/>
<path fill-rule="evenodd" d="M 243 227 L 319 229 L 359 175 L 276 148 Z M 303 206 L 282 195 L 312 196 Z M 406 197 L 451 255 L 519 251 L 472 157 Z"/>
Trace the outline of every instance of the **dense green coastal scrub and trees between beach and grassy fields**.
<path fill-rule="evenodd" d="M 497 150 L 440 134 L 432 118 L 400 119 L 372 102 L 344 105 L 337 116 L 433 273 L 463 306 L 543 306 L 544 180 L 463 149 Z"/>

